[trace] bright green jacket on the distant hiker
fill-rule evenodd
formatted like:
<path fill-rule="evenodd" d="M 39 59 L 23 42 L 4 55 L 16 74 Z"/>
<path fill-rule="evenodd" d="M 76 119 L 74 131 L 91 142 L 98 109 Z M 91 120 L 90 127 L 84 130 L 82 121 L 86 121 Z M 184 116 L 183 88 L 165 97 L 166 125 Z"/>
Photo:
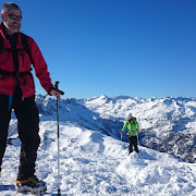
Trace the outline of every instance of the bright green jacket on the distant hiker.
<path fill-rule="evenodd" d="M 124 123 L 124 126 L 122 128 L 123 133 L 126 131 L 126 127 L 128 128 L 128 132 L 127 132 L 128 136 L 137 136 L 136 130 L 139 130 L 139 126 L 138 126 L 138 123 L 136 121 L 136 118 L 133 118 L 131 120 L 131 122 L 126 120 L 126 122 Z"/>

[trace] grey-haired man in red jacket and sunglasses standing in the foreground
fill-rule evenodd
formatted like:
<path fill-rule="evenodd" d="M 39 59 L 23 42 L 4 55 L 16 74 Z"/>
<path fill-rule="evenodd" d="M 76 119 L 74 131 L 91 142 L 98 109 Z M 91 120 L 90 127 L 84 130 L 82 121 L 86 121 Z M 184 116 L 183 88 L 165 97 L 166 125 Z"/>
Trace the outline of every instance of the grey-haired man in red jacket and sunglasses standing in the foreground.
<path fill-rule="evenodd" d="M 44 57 L 33 38 L 27 36 L 29 53 L 24 50 L 22 11 L 15 3 L 1 9 L 0 36 L 0 169 L 5 151 L 8 128 L 13 109 L 17 119 L 19 137 L 22 142 L 16 180 L 19 192 L 46 188 L 46 183 L 35 175 L 35 161 L 40 144 L 39 115 L 35 103 L 35 84 L 30 64 L 45 90 L 60 99 L 61 91 L 53 87 Z"/>

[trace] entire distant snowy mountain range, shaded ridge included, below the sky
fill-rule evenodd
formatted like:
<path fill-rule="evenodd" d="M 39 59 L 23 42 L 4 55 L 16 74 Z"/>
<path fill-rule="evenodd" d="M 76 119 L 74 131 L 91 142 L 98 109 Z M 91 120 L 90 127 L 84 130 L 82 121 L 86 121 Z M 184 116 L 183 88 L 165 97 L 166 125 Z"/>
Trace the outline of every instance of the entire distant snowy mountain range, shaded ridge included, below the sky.
<path fill-rule="evenodd" d="M 56 100 L 38 95 L 36 102 L 40 120 L 56 121 Z M 174 155 L 186 162 L 196 162 L 196 98 L 164 97 L 93 97 L 62 99 L 60 121 L 99 131 L 120 138 L 120 131 L 128 113 L 137 118 L 139 144 Z M 126 134 L 123 140 L 127 140 Z"/>

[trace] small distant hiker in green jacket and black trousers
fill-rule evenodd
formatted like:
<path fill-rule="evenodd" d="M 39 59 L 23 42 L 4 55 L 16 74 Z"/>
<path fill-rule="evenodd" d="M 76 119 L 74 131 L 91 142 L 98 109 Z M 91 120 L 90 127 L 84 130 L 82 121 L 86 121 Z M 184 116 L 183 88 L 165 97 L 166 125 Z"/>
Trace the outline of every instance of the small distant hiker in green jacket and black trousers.
<path fill-rule="evenodd" d="M 128 135 L 128 155 L 131 152 L 133 152 L 133 146 L 136 152 L 139 152 L 138 147 L 137 147 L 137 134 L 138 134 L 138 122 L 136 120 L 136 118 L 132 117 L 132 114 L 130 113 L 127 117 L 126 122 L 124 123 L 124 126 L 122 128 L 122 131 L 120 132 L 120 134 L 123 134 L 126 131 L 126 127 L 128 128 L 127 135 Z"/>

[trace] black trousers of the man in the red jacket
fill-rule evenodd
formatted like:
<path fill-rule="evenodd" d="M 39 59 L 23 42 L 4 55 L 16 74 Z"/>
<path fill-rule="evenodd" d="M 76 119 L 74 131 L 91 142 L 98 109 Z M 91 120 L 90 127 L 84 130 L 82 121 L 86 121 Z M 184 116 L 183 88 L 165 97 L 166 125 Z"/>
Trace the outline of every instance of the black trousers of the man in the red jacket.
<path fill-rule="evenodd" d="M 17 91 L 13 96 L 12 108 L 17 119 L 17 132 L 22 143 L 17 180 L 25 180 L 35 173 L 37 149 L 40 144 L 38 135 L 39 115 L 35 103 L 35 96 L 23 100 L 22 94 Z M 0 95 L 0 167 L 7 147 L 10 120 L 9 97 Z"/>

